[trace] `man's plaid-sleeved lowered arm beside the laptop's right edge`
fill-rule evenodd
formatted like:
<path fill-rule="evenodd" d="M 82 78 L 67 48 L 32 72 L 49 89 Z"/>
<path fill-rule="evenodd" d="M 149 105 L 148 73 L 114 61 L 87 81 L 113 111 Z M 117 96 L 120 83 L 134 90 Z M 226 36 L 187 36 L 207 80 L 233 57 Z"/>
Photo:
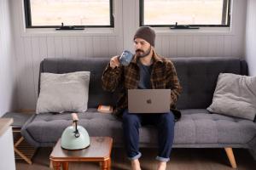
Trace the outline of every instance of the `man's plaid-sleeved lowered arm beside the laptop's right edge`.
<path fill-rule="evenodd" d="M 177 98 L 182 91 L 182 87 L 179 84 L 177 72 L 172 61 L 168 61 L 166 72 L 166 88 L 171 88 L 171 107 L 175 107 Z"/>

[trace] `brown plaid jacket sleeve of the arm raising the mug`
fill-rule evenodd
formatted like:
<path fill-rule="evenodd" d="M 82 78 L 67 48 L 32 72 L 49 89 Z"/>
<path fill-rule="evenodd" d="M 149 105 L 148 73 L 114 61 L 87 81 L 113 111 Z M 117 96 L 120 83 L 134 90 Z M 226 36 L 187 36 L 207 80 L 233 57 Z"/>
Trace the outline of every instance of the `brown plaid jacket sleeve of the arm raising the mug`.
<path fill-rule="evenodd" d="M 118 86 L 123 74 L 123 66 L 111 68 L 109 63 L 102 74 L 102 88 L 106 91 L 113 92 Z"/>

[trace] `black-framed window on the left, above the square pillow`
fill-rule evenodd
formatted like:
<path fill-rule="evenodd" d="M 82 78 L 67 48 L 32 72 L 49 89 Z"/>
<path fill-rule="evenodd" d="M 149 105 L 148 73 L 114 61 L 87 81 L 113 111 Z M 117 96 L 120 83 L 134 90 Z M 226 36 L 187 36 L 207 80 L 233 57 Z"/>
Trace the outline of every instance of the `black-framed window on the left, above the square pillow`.
<path fill-rule="evenodd" d="M 113 27 L 113 0 L 24 0 L 26 28 Z"/>

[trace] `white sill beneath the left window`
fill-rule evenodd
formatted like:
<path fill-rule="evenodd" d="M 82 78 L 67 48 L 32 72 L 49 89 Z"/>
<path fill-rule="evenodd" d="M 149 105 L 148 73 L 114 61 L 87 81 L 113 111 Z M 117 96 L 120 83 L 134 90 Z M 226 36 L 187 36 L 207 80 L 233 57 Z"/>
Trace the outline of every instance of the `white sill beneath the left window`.
<path fill-rule="evenodd" d="M 115 36 L 114 28 L 85 28 L 84 30 L 56 31 L 55 28 L 26 28 L 22 32 L 22 37 L 73 37 L 73 36 Z"/>

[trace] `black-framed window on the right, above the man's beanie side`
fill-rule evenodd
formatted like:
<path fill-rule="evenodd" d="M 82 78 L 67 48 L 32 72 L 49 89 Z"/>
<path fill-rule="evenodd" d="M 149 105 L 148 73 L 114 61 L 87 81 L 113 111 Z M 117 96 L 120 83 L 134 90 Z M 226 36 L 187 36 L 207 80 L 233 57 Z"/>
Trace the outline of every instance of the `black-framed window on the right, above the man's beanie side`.
<path fill-rule="evenodd" d="M 230 26 L 230 0 L 140 0 L 140 26 Z"/>

